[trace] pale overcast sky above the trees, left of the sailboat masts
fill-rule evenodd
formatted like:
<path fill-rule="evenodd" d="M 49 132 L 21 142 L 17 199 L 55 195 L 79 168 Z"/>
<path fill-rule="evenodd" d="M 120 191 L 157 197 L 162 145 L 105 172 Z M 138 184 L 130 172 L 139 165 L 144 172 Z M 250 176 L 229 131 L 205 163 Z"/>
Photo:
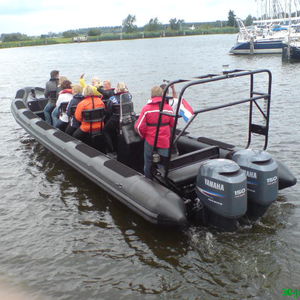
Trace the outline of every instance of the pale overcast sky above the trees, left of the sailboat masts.
<path fill-rule="evenodd" d="M 0 0 L 0 34 L 117 26 L 128 14 L 136 16 L 138 26 L 154 17 L 162 23 L 227 20 L 230 9 L 241 18 L 256 15 L 254 0 Z"/>

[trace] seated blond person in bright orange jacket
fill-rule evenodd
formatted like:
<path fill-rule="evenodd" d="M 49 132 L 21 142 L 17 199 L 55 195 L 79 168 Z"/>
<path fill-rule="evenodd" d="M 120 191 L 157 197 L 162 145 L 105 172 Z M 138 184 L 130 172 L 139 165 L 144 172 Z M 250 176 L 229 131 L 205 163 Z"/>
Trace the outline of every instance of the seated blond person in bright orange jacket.
<path fill-rule="evenodd" d="M 83 96 L 84 99 L 77 105 L 75 111 L 75 118 L 81 125 L 73 133 L 73 136 L 79 140 L 87 141 L 91 132 L 103 129 L 104 122 L 85 122 L 82 117 L 82 112 L 95 108 L 105 108 L 105 105 L 99 96 L 95 96 L 94 89 L 90 85 L 84 88 Z"/>

